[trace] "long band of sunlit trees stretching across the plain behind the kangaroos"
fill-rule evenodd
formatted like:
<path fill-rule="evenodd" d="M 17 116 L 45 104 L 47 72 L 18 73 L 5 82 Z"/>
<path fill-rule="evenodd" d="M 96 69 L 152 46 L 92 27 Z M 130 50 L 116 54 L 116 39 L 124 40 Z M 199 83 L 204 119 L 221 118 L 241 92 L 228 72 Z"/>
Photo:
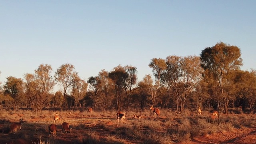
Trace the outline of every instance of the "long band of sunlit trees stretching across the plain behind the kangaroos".
<path fill-rule="evenodd" d="M 148 110 L 149 105 L 185 109 L 212 108 L 228 113 L 242 107 L 253 112 L 256 101 L 256 73 L 240 70 L 241 51 L 223 42 L 204 48 L 200 56 L 152 58 L 152 75 L 137 80 L 136 66 L 116 66 L 97 76 L 80 78 L 72 64 L 56 72 L 41 64 L 23 78 L 8 76 L 0 88 L 0 110 Z M 58 85 L 61 91 L 54 92 Z"/>

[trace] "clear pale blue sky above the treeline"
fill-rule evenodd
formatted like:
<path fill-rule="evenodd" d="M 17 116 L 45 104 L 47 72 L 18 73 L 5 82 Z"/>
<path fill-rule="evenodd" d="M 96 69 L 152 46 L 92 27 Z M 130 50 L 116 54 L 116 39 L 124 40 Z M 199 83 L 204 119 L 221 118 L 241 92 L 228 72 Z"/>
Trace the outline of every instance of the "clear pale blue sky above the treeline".
<path fill-rule="evenodd" d="M 152 74 L 152 58 L 197 55 L 217 42 L 256 68 L 256 0 L 0 0 L 0 82 L 40 64 L 87 80 L 115 66 Z"/>

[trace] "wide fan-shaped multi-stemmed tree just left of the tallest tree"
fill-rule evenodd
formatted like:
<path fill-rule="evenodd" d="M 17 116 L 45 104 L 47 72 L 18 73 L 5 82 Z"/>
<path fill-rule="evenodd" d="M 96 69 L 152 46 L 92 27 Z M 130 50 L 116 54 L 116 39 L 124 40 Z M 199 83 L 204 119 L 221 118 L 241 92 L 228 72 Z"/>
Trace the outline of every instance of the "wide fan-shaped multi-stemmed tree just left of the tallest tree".
<path fill-rule="evenodd" d="M 201 80 L 200 59 L 198 56 L 168 56 L 166 65 L 167 68 L 162 73 L 161 80 L 174 92 L 177 104 L 182 112 L 186 99 Z"/>

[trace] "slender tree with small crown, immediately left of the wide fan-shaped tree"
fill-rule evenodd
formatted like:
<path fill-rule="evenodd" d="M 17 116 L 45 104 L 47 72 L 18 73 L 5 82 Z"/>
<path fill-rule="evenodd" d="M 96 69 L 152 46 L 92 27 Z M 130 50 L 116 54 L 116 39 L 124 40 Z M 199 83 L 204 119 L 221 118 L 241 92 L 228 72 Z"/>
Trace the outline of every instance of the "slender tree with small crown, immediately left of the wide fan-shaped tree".
<path fill-rule="evenodd" d="M 151 62 L 148 64 L 150 68 L 152 68 L 152 72 L 155 76 L 154 84 L 149 89 L 150 91 L 150 103 L 154 105 L 156 103 L 156 99 L 159 97 L 160 91 L 160 76 L 166 70 L 167 65 L 164 59 L 161 58 L 153 58 Z"/>

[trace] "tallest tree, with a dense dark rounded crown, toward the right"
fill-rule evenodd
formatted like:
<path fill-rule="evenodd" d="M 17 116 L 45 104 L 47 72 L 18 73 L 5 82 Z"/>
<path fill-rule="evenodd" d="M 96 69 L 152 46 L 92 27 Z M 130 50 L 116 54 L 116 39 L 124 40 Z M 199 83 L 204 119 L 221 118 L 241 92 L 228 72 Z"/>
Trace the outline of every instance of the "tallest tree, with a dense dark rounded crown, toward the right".
<path fill-rule="evenodd" d="M 230 85 L 229 74 L 242 66 L 241 52 L 237 46 L 230 46 L 223 42 L 215 46 L 204 48 L 200 54 L 201 66 L 204 68 L 204 80 L 208 83 L 208 92 L 215 103 L 222 102 L 225 112 L 232 98 L 225 91 Z M 216 109 L 216 106 L 214 107 Z"/>

